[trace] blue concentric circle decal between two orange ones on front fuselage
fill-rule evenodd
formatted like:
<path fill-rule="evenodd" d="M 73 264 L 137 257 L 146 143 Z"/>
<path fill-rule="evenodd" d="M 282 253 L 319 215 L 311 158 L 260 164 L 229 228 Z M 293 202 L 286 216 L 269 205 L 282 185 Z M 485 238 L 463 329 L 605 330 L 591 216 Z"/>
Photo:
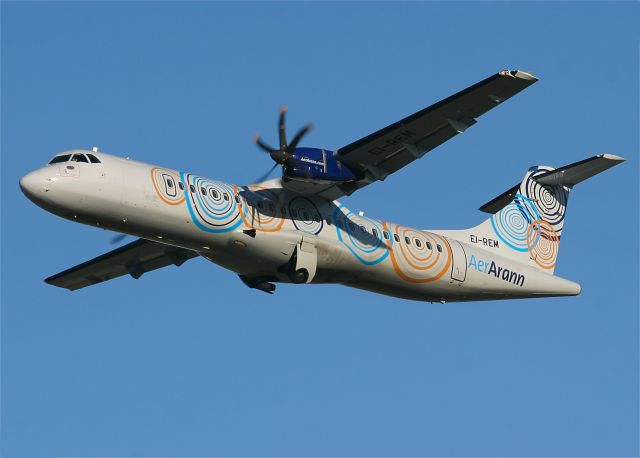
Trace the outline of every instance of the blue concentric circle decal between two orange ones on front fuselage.
<path fill-rule="evenodd" d="M 229 232 L 242 224 L 231 186 L 188 173 L 182 174 L 193 222 L 206 232 Z"/>

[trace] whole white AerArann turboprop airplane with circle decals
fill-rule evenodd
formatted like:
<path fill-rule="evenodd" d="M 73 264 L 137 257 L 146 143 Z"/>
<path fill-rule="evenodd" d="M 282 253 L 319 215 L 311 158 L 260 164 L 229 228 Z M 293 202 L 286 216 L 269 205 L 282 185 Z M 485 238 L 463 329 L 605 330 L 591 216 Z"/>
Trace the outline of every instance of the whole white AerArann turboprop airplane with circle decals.
<path fill-rule="evenodd" d="M 501 71 L 333 152 L 296 147 L 311 126 L 287 143 L 283 108 L 280 147 L 256 137 L 282 177 L 249 186 L 97 148 L 57 154 L 20 180 L 24 194 L 63 218 L 140 238 L 45 281 L 76 290 L 202 256 L 267 293 L 281 282 L 341 283 L 431 302 L 577 295 L 579 284 L 553 275 L 567 197 L 620 157 L 531 167 L 480 207 L 491 215 L 486 221 L 465 230 L 413 229 L 336 200 L 421 158 L 536 81 Z"/>

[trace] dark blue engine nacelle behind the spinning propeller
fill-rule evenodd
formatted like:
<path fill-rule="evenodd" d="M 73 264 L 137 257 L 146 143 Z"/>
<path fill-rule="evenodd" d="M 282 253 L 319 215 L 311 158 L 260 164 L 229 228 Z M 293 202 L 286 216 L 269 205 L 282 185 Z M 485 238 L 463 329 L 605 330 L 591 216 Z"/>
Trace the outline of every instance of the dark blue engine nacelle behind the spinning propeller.
<path fill-rule="evenodd" d="M 284 167 L 284 176 L 340 182 L 362 178 L 341 163 L 333 151 L 321 148 L 296 148 Z"/>

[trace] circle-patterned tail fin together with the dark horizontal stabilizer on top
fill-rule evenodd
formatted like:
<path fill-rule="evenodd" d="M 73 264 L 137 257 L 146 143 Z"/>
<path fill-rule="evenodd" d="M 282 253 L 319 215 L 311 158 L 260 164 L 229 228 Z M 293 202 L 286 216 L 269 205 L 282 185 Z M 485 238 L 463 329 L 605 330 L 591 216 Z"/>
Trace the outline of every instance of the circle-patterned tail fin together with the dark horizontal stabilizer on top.
<path fill-rule="evenodd" d="M 489 241 L 501 256 L 553 274 L 569 192 L 581 181 L 623 161 L 602 154 L 558 169 L 531 167 L 520 184 L 480 207 L 492 214 L 489 219 L 450 235 L 463 236 L 465 242 Z"/>

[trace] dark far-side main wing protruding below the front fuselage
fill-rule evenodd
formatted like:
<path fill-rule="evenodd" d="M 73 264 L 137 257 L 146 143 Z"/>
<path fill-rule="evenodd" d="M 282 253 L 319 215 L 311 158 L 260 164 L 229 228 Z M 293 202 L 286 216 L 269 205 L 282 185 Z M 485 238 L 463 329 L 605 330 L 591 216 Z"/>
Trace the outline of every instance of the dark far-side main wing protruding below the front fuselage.
<path fill-rule="evenodd" d="M 138 239 L 90 261 L 52 275 L 45 282 L 74 291 L 129 274 L 140 278 L 145 272 L 180 266 L 198 253 L 184 248 Z"/>

